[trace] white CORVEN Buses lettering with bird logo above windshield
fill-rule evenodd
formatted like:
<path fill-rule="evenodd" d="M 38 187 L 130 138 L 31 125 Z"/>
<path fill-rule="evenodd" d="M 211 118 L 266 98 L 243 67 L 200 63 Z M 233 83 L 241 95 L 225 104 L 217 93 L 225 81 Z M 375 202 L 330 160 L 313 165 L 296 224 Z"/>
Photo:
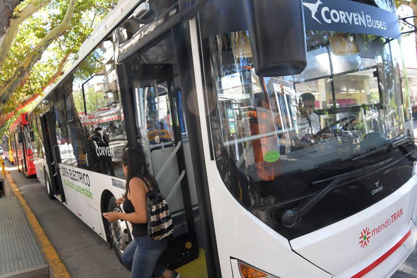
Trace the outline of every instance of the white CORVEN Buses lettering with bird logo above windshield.
<path fill-rule="evenodd" d="M 332 9 L 327 6 L 319 7 L 322 3 L 320 0 L 317 0 L 315 3 L 303 3 L 311 11 L 312 18 L 321 25 L 323 25 L 323 22 L 328 24 L 342 23 L 350 26 L 364 26 L 381 30 L 387 29 L 386 22 L 375 20 L 372 16 L 365 14 L 364 11 L 348 12 Z M 321 17 L 321 20 L 316 16 Z"/>

